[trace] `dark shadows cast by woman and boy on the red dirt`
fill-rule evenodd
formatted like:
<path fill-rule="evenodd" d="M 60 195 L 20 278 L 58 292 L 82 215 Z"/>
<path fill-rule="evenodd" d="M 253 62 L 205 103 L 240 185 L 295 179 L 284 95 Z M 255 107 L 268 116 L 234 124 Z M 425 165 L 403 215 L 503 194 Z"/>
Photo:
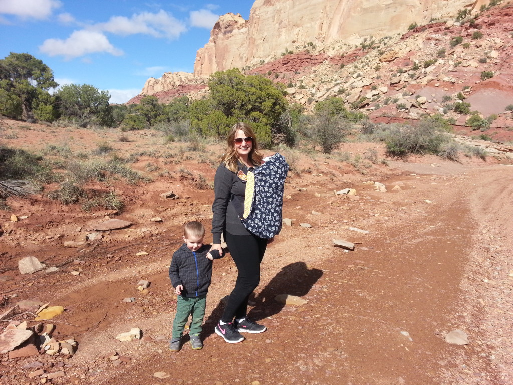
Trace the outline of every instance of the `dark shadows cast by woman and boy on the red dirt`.
<path fill-rule="evenodd" d="M 322 276 L 322 270 L 308 268 L 305 262 L 293 262 L 283 266 L 254 298 L 249 298 L 249 303 L 256 303 L 249 312 L 251 319 L 258 321 L 274 314 L 280 313 L 285 306 L 283 303 L 274 300 L 278 294 L 290 294 L 302 297 L 310 291 L 313 284 Z M 203 336 L 208 338 L 214 334 L 214 328 L 221 319 L 224 311 L 224 304 L 219 301 L 203 325 Z"/>

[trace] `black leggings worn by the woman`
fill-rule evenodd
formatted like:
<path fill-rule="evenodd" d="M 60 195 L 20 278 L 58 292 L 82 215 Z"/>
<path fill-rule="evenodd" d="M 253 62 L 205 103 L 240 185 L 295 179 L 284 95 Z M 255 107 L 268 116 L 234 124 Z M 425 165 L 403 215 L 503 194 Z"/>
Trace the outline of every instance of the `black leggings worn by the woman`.
<path fill-rule="evenodd" d="M 260 262 L 264 257 L 267 239 L 255 235 L 233 235 L 226 233 L 226 243 L 239 270 L 235 288 L 230 294 L 221 320 L 232 322 L 233 318 L 244 318 L 248 312 L 249 295 L 260 282 Z"/>

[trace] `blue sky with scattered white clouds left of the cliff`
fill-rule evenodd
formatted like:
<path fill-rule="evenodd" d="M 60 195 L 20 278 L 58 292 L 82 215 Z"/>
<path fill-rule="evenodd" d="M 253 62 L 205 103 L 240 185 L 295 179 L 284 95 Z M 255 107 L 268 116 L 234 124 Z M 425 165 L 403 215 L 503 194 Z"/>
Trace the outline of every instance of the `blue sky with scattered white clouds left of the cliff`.
<path fill-rule="evenodd" d="M 219 15 L 249 18 L 254 0 L 0 0 L 0 59 L 27 52 L 57 83 L 108 90 L 112 103 L 164 72 L 193 72 Z"/>

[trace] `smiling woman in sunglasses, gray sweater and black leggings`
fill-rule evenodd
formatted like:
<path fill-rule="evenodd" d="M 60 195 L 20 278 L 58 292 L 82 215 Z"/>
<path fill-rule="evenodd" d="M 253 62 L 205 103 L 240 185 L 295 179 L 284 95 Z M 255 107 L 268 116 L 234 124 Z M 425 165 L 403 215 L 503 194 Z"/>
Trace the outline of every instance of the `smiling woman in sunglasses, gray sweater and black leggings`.
<path fill-rule="evenodd" d="M 273 238 L 259 238 L 250 233 L 240 220 L 233 202 L 239 200 L 244 204 L 248 171 L 252 172 L 262 162 L 257 137 L 248 124 L 237 123 L 228 133 L 227 141 L 228 148 L 215 173 L 211 250 L 217 249 L 222 253 L 221 234 L 224 233 L 239 276 L 221 320 L 215 326 L 215 333 L 226 342 L 237 343 L 244 340 L 243 332 L 262 333 L 266 330 L 265 326 L 248 319 L 247 308 L 249 295 L 260 282 L 260 262 L 265 248 Z"/>

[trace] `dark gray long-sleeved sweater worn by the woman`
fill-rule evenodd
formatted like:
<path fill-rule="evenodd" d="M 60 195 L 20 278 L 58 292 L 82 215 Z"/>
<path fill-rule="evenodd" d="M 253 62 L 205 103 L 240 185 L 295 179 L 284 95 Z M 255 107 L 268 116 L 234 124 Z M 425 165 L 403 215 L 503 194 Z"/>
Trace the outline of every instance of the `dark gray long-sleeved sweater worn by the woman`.
<path fill-rule="evenodd" d="M 242 165 L 240 165 L 242 166 Z M 247 174 L 247 168 L 242 169 Z M 244 204 L 244 195 L 246 194 L 246 182 L 242 181 L 235 172 L 226 168 L 221 163 L 215 172 L 214 178 L 215 198 L 212 204 L 212 243 L 221 243 L 221 234 L 226 230 L 233 235 L 251 235 L 239 219 L 239 214 L 235 209 L 233 199 L 242 199 Z"/>

